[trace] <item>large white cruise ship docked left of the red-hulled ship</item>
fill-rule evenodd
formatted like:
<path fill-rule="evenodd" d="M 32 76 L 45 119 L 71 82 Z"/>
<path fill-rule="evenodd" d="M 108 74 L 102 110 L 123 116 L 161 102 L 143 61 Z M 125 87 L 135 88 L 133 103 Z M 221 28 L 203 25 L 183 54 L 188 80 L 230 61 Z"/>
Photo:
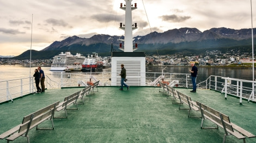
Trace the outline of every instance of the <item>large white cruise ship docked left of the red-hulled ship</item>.
<path fill-rule="evenodd" d="M 62 52 L 57 56 L 53 57 L 53 62 L 51 65 L 52 71 L 80 71 L 82 70 L 82 63 L 86 57 L 77 53 L 72 55 L 69 51 L 65 54 Z"/>

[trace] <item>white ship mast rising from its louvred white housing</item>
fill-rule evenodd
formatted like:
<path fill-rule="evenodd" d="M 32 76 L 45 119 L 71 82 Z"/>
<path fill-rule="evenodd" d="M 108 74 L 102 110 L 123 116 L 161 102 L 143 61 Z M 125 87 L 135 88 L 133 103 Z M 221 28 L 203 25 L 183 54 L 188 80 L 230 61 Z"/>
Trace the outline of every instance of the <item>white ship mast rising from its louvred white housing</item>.
<path fill-rule="evenodd" d="M 120 9 L 125 10 L 125 23 L 120 23 L 120 29 L 125 31 L 124 45 L 120 43 L 119 49 L 124 52 L 112 51 L 111 58 L 111 86 L 120 85 L 120 65 L 124 64 L 126 69 L 127 84 L 129 86 L 145 86 L 145 52 L 133 52 L 138 49 L 138 44 L 133 44 L 132 30 L 137 29 L 137 23 L 132 23 L 132 10 L 137 9 L 137 3 L 132 0 L 124 0 Z"/>

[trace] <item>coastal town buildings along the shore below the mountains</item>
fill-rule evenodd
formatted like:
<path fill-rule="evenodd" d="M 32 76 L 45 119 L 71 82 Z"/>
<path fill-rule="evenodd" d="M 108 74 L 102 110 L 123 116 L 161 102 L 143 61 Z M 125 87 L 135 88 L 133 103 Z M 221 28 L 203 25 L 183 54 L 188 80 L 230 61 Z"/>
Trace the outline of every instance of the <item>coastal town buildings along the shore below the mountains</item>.
<path fill-rule="evenodd" d="M 195 63 L 197 66 L 252 66 L 251 53 L 235 53 L 230 50 L 228 53 L 222 53 L 220 50 L 206 51 L 204 55 L 184 56 L 182 54 L 174 55 L 153 55 L 146 56 L 146 64 L 148 66 L 189 66 L 190 63 Z M 111 63 L 111 57 L 108 56 L 108 62 Z M 32 60 L 31 66 L 51 66 L 53 59 Z M 30 66 L 28 59 L 14 60 L 11 58 L 1 58 L 1 65 L 22 65 Z M 254 62 L 256 62 L 254 60 Z"/>

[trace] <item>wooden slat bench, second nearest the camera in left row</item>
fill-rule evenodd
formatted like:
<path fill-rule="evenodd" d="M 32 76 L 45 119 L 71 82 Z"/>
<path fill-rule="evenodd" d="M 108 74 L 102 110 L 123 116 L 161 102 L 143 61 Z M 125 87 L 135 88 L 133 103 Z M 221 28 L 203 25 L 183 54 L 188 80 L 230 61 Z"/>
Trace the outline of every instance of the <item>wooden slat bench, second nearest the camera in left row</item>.
<path fill-rule="evenodd" d="M 69 96 L 66 96 L 65 98 L 64 98 L 64 101 L 63 102 L 60 102 L 59 103 L 59 106 L 57 107 L 57 109 L 56 109 L 56 111 L 65 111 L 65 114 L 66 114 L 66 116 L 65 117 L 56 117 L 56 116 L 54 116 L 54 118 L 68 118 L 68 113 L 66 112 L 67 110 L 77 110 L 78 109 L 78 107 L 77 107 L 77 103 L 76 103 L 76 101 L 77 101 L 77 99 L 78 99 L 78 97 L 79 97 L 79 95 L 80 95 L 80 93 L 81 93 L 81 91 L 79 91 L 79 92 L 76 92 L 76 93 L 74 93 L 74 94 L 71 94 L 71 95 L 69 95 Z M 76 104 L 76 108 L 67 108 L 69 105 L 71 105 L 71 104 Z"/>

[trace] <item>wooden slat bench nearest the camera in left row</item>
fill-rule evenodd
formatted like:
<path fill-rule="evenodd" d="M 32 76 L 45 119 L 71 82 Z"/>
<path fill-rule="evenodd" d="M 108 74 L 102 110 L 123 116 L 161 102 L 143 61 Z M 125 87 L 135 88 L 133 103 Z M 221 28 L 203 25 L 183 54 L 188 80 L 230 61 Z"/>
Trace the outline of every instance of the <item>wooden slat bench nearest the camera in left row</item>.
<path fill-rule="evenodd" d="M 36 111 L 32 114 L 29 114 L 25 116 L 22 120 L 22 123 L 9 131 L 3 133 L 0 135 L 0 139 L 7 138 L 7 142 L 13 141 L 21 136 L 27 138 L 27 142 L 29 141 L 28 131 L 34 127 L 36 127 L 36 130 L 38 129 L 54 129 L 53 125 L 53 115 L 54 111 L 56 111 L 56 107 L 59 105 L 59 101 L 52 103 L 51 105 L 40 109 L 39 111 Z M 50 120 L 52 123 L 51 128 L 38 128 L 38 125 L 45 121 Z"/>

